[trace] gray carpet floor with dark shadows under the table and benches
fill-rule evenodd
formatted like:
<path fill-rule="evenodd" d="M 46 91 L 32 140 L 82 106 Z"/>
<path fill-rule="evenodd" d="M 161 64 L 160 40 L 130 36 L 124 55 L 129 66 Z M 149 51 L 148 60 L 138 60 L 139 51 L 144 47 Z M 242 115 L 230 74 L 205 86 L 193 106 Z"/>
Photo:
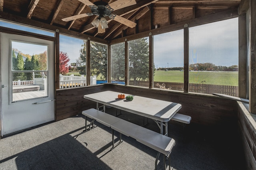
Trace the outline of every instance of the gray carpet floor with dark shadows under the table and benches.
<path fill-rule="evenodd" d="M 115 110 L 108 110 L 116 114 Z M 121 113 L 118 117 L 143 124 L 143 117 Z M 122 135 L 123 142 L 110 151 L 111 129 L 96 122 L 97 127 L 83 133 L 84 125 L 84 116 L 80 114 L 4 136 L 0 140 L 0 170 L 154 170 L 155 150 Z M 159 131 L 152 120 L 145 127 Z M 215 146 L 196 132 L 191 135 L 189 129 L 188 125 L 184 131 L 174 121 L 168 125 L 168 136 L 176 141 L 171 153 L 174 169 L 240 169 L 240 163 L 228 150 Z M 158 169 L 164 169 L 162 155 Z"/>

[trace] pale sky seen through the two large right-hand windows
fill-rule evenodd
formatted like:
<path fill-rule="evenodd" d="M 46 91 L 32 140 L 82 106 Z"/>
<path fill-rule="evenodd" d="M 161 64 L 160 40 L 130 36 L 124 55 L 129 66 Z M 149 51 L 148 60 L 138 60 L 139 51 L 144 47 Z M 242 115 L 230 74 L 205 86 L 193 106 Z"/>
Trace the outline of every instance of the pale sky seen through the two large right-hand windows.
<path fill-rule="evenodd" d="M 154 36 L 156 67 L 183 67 L 183 30 Z M 189 63 L 238 65 L 238 18 L 189 28 Z"/>

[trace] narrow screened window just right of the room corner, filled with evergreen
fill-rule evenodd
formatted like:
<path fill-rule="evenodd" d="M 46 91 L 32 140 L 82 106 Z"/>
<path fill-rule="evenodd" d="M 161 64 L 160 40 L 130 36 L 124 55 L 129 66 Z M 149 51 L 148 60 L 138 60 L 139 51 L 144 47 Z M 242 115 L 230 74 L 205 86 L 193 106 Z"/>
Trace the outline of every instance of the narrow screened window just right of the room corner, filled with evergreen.
<path fill-rule="evenodd" d="M 111 69 L 112 82 L 125 84 L 124 43 L 111 45 Z"/>

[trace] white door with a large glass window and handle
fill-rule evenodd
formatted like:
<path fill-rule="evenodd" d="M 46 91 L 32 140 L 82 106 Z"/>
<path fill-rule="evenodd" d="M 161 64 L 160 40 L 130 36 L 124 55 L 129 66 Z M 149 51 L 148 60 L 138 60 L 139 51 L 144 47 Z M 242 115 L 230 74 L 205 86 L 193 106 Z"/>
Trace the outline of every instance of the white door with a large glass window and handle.
<path fill-rule="evenodd" d="M 54 42 L 1 33 L 1 136 L 54 121 Z"/>

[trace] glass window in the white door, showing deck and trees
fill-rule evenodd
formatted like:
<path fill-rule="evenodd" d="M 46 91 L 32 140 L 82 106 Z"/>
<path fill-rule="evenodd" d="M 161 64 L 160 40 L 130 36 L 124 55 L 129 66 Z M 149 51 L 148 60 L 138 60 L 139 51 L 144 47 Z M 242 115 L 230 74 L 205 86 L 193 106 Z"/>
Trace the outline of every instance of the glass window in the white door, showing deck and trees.
<path fill-rule="evenodd" d="M 12 41 L 12 102 L 48 96 L 48 46 Z"/>

